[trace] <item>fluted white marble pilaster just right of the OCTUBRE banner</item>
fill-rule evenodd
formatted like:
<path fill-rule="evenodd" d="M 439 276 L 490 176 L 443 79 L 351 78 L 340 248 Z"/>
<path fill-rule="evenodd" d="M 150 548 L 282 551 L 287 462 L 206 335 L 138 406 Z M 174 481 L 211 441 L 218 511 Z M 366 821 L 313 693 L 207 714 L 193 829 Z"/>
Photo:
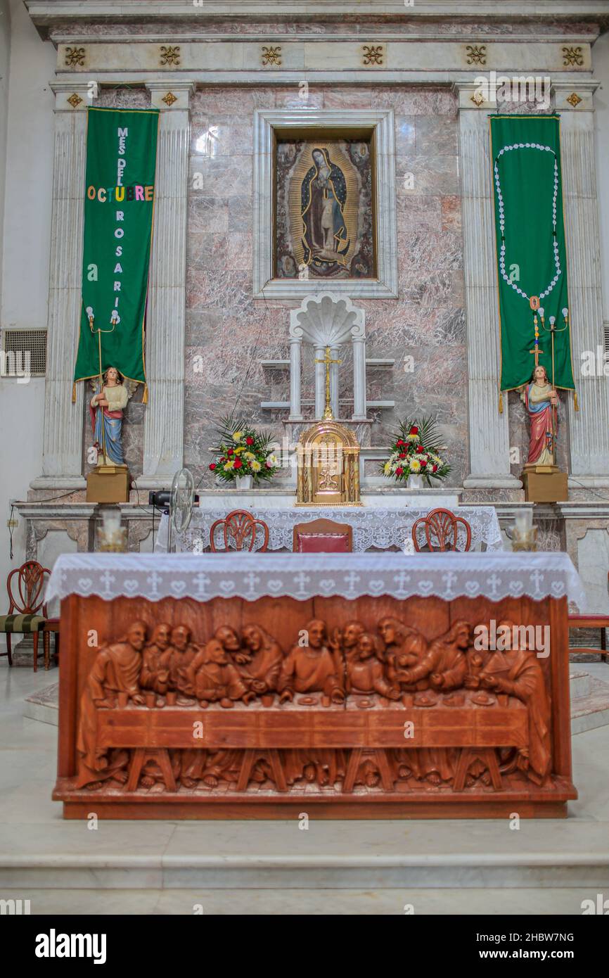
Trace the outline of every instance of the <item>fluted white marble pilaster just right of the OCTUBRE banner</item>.
<path fill-rule="evenodd" d="M 144 420 L 144 467 L 137 485 L 154 489 L 169 486 L 184 464 L 189 99 L 194 85 L 190 81 L 149 81 L 146 87 L 152 107 L 160 109 L 160 121 L 146 325 L 149 403 Z"/>

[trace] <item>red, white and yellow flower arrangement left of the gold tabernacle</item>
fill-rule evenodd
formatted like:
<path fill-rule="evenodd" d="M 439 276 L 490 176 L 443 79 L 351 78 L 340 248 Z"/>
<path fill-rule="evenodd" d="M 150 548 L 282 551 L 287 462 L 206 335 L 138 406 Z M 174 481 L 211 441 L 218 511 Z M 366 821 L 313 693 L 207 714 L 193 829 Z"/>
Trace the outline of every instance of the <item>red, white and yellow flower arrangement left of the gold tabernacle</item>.
<path fill-rule="evenodd" d="M 243 475 L 252 475 L 254 482 L 268 481 L 279 468 L 279 459 L 272 451 L 272 436 L 256 431 L 243 419 L 233 415 L 223 418 L 217 429 L 218 442 L 211 449 L 215 459 L 209 469 L 224 482 L 233 482 Z"/>

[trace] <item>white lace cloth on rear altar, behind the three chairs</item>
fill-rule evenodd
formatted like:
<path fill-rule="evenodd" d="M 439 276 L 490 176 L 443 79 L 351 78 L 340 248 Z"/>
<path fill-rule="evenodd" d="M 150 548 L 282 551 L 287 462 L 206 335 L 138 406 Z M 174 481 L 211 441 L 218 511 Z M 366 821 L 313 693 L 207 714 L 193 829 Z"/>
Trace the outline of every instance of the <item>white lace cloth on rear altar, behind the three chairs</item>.
<path fill-rule="evenodd" d="M 195 510 L 188 530 L 176 534 L 177 550 L 182 553 L 202 554 L 209 547 L 209 531 L 216 519 L 224 519 L 228 510 Z M 413 523 L 419 516 L 426 516 L 428 508 L 409 507 L 408 510 L 373 510 L 349 507 L 341 510 L 332 507 L 304 509 L 294 507 L 289 510 L 248 510 L 254 519 L 262 519 L 269 527 L 269 547 L 271 551 L 291 551 L 292 533 L 296 523 L 308 523 L 320 516 L 333 519 L 336 523 L 349 523 L 353 527 L 353 550 L 363 552 L 375 548 L 389 550 L 391 547 L 404 547 L 405 540 L 413 538 Z M 493 506 L 459 506 L 457 516 L 466 519 L 471 527 L 471 549 L 485 546 L 487 550 L 501 550 L 501 533 L 497 511 Z M 167 529 L 169 517 L 163 513 L 154 543 L 155 554 L 167 553 Z M 218 534 L 216 546 L 224 547 Z M 421 541 L 424 533 L 421 527 Z M 465 547 L 465 529 L 458 524 L 457 550 Z"/>

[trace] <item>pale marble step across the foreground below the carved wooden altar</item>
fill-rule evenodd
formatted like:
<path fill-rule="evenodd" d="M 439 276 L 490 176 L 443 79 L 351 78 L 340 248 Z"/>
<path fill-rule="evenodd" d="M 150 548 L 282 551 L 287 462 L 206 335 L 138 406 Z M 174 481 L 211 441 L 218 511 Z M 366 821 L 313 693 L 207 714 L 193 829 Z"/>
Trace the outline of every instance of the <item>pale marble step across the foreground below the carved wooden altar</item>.
<path fill-rule="evenodd" d="M 92 798 L 92 812 L 95 799 Z M 22 889 L 580 888 L 609 892 L 606 822 L 15 822 L 0 892 Z M 37 829 L 37 830 L 36 830 Z"/>

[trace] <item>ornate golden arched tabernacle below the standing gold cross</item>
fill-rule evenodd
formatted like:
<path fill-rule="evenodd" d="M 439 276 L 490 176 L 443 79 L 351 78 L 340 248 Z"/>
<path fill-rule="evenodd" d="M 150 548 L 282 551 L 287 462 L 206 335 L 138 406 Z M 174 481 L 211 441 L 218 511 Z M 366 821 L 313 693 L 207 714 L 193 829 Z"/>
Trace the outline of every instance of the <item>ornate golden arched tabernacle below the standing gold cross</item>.
<path fill-rule="evenodd" d="M 334 421 L 303 431 L 296 446 L 297 506 L 361 506 L 360 446 Z"/>

